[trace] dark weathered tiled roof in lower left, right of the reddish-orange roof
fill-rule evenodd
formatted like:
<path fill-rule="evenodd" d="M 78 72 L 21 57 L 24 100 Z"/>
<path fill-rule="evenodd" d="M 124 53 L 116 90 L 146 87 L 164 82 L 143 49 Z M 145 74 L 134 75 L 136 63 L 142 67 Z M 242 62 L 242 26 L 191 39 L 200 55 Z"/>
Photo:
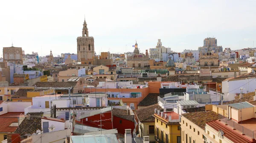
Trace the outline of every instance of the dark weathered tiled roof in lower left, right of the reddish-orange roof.
<path fill-rule="evenodd" d="M 38 129 L 41 130 L 41 117 L 30 117 L 30 119 L 25 118 L 14 133 L 20 135 L 32 135 L 33 133 L 36 133 L 36 130 Z"/>

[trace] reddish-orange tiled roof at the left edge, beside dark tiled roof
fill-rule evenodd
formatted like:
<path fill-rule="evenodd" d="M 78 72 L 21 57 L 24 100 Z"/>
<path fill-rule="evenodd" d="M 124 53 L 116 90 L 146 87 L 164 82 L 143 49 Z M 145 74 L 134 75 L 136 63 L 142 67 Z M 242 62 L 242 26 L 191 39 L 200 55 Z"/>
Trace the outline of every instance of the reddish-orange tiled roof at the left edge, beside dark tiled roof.
<path fill-rule="evenodd" d="M 0 117 L 0 132 L 14 132 L 17 126 L 10 126 L 12 123 L 18 123 L 16 117 Z"/>

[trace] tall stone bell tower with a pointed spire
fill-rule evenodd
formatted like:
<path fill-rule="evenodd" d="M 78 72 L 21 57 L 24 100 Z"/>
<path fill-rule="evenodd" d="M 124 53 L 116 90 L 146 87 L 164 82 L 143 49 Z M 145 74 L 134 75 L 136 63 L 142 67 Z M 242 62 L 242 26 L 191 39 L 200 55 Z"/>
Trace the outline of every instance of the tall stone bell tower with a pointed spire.
<path fill-rule="evenodd" d="M 92 64 L 94 56 L 94 38 L 89 36 L 85 19 L 82 28 L 82 36 L 77 37 L 76 41 L 78 62 L 88 61 L 85 64 Z"/>

